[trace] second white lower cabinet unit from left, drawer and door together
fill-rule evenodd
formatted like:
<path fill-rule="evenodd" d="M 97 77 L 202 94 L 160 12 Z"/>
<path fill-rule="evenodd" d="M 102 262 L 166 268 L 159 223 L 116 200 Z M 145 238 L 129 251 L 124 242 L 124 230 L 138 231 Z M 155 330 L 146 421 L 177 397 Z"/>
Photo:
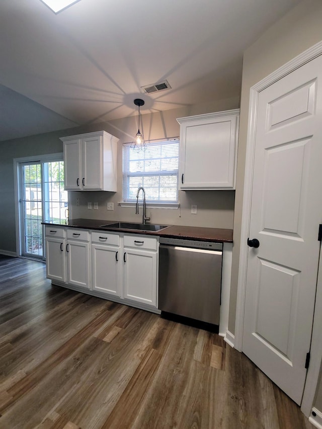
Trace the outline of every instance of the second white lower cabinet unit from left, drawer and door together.
<path fill-rule="evenodd" d="M 67 283 L 90 288 L 90 234 L 88 231 L 67 229 Z"/>

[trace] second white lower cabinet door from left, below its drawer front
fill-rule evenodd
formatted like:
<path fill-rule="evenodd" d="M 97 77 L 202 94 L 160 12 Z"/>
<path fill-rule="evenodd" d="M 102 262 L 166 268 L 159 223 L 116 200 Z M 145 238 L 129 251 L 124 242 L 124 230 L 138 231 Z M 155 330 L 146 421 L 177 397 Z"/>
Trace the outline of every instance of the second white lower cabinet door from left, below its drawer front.
<path fill-rule="evenodd" d="M 67 283 L 90 288 L 89 243 L 67 240 Z"/>

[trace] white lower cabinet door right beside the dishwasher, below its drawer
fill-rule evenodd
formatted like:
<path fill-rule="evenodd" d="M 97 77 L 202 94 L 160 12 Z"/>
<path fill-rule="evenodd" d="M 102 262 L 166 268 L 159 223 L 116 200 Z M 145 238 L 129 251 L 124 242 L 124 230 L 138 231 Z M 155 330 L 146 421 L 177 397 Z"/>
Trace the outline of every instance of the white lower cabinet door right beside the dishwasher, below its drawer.
<path fill-rule="evenodd" d="M 156 252 L 124 248 L 124 298 L 156 306 Z"/>

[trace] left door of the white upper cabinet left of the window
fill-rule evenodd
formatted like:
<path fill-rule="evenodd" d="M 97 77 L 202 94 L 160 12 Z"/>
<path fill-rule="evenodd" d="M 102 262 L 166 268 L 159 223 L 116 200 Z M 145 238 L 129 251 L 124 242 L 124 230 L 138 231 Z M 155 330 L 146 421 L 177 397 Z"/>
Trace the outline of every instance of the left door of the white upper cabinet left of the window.
<path fill-rule="evenodd" d="M 82 148 L 79 139 L 64 142 L 64 180 L 66 190 L 82 189 Z"/>

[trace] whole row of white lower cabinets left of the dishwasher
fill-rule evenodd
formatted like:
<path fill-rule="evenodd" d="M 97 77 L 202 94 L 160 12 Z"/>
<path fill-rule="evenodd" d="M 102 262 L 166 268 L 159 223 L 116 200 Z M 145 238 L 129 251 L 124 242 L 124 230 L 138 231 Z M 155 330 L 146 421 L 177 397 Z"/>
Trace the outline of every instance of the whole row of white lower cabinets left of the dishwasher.
<path fill-rule="evenodd" d="M 53 283 L 159 312 L 156 237 L 50 226 L 45 234 Z"/>

